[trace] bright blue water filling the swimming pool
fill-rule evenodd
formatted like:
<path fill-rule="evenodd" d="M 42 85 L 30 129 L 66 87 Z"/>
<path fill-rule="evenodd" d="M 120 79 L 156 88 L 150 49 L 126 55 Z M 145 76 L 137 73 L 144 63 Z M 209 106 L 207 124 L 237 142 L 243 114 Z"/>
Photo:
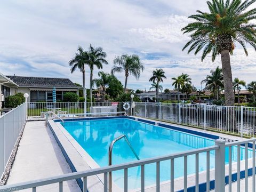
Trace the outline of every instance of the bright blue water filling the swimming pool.
<path fill-rule="evenodd" d="M 214 145 L 214 140 L 185 132 L 165 129 L 132 119 L 114 118 L 90 121 L 65 122 L 65 129 L 74 137 L 84 150 L 100 166 L 108 165 L 108 148 L 110 142 L 125 134 L 140 159 L 179 153 L 181 151 Z M 233 162 L 237 161 L 236 147 L 233 148 Z M 249 158 L 252 157 L 249 151 Z M 241 148 L 241 160 L 244 149 Z M 119 140 L 113 149 L 113 164 L 136 161 L 131 149 L 124 141 Z M 228 148 L 226 149 L 228 163 Z M 214 151 L 210 153 L 210 169 L 214 168 Z M 206 170 L 206 153 L 199 154 L 199 171 Z M 161 182 L 170 180 L 170 161 L 161 162 Z M 195 173 L 195 155 L 188 156 L 188 174 Z M 140 167 L 128 171 L 129 188 L 140 187 Z M 174 160 L 174 178 L 183 177 L 183 158 Z M 145 185 L 156 183 L 156 164 L 145 166 Z M 123 171 L 113 172 L 113 181 L 123 186 Z"/>

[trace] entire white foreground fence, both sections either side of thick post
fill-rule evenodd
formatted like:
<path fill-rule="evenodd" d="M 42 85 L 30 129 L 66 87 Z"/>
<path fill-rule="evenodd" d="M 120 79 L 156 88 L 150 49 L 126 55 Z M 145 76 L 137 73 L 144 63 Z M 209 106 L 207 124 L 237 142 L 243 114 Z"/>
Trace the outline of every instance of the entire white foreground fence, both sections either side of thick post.
<path fill-rule="evenodd" d="M 161 190 L 161 182 L 160 182 L 160 177 L 161 177 L 161 171 L 160 171 L 160 165 L 163 161 L 170 161 L 170 169 L 171 169 L 171 180 L 170 180 L 170 190 L 171 192 L 174 192 L 175 187 L 177 187 L 177 183 L 174 182 L 174 167 L 177 166 L 175 165 L 175 159 L 177 158 L 183 158 L 183 166 L 184 167 L 184 172 L 183 172 L 183 186 L 182 188 L 184 191 L 188 190 L 188 180 L 191 184 L 193 183 L 194 190 L 198 192 L 200 184 L 203 183 L 203 186 L 205 186 L 204 191 L 210 191 L 213 189 L 210 185 L 213 180 L 210 180 L 210 175 L 214 174 L 214 183 L 215 183 L 215 191 L 216 192 L 223 192 L 225 191 L 225 185 L 228 185 L 228 191 L 231 192 L 233 186 L 230 185 L 231 182 L 236 181 L 235 183 L 237 185 L 237 190 L 236 191 L 253 191 L 255 192 L 255 141 L 256 139 L 250 139 L 246 141 L 236 141 L 236 142 L 230 142 L 230 143 L 225 143 L 223 140 L 216 140 L 215 145 L 211 147 L 204 147 L 204 148 L 199 148 L 199 149 L 193 149 L 193 150 L 188 150 L 188 151 L 183 151 L 182 153 L 176 153 L 176 154 L 171 154 L 171 155 L 165 155 L 161 157 L 154 157 L 154 158 L 147 158 L 147 159 L 142 159 L 139 161 L 135 162 L 129 162 L 129 163 L 124 163 L 124 164 L 119 164 L 119 165 L 111 165 L 111 166 L 106 166 L 106 167 L 100 167 L 98 169 L 92 169 L 92 170 L 87 170 L 87 171 L 81 171 L 81 172 L 74 172 L 74 173 L 68 173 L 68 174 L 63 174 L 63 175 L 58 175 L 56 177 L 52 178 L 46 178 L 46 179 L 41 179 L 41 180 L 35 180 L 35 181 L 28 181 L 28 182 L 23 182 L 23 183 L 17 183 L 13 185 L 7 185 L 7 186 L 1 186 L 0 191 L 17 191 L 21 189 L 32 189 L 31 191 L 36 192 L 37 187 L 44 186 L 44 185 L 50 185 L 52 183 L 59 183 L 59 191 L 63 191 L 63 181 L 68 181 L 68 180 L 73 180 L 73 179 L 79 179 L 81 178 L 83 181 L 83 191 L 87 191 L 87 186 L 91 186 L 91 183 L 88 182 L 88 177 L 92 175 L 103 175 L 103 188 L 102 190 L 99 189 L 100 191 L 107 192 L 109 191 L 108 189 L 108 174 L 110 172 L 114 172 L 117 170 L 123 170 L 124 173 L 124 189 L 123 191 L 128 191 L 128 186 L 129 186 L 129 169 L 132 167 L 140 167 L 140 179 L 138 182 L 140 183 L 140 191 L 144 192 L 145 191 L 145 174 L 147 173 L 147 169 L 145 169 L 145 165 L 147 164 L 155 164 L 156 166 L 156 178 L 155 178 L 155 190 L 154 191 L 162 191 Z M 250 149 L 249 151 L 249 143 L 250 145 L 253 145 L 253 148 Z M 245 147 L 243 147 L 245 146 Z M 214 161 L 215 161 L 215 168 L 214 171 L 212 172 L 210 170 L 210 152 L 213 151 L 214 154 Z M 228 151 L 228 164 L 225 164 L 225 154 L 227 154 Z M 249 159 L 249 154 L 252 155 Z M 206 177 L 200 177 L 200 170 L 199 170 L 199 155 L 204 154 L 203 156 L 206 157 Z M 191 163 L 188 162 L 188 156 L 194 156 L 195 158 L 195 173 L 194 173 L 194 180 L 191 180 L 191 175 L 190 178 L 188 179 L 188 166 L 191 166 Z M 241 161 L 241 156 L 244 157 L 244 160 Z M 234 157 L 237 159 L 237 163 L 232 162 Z M 249 162 L 250 160 L 250 162 Z M 243 168 L 242 168 L 243 167 Z M 251 167 L 254 167 L 252 169 Z M 243 170 L 243 171 L 242 171 Z M 250 170 L 250 175 L 251 177 L 249 178 L 249 170 Z M 242 172 L 243 174 L 241 174 Z M 237 175 L 237 179 L 236 178 Z M 235 177 L 234 177 L 235 176 Z M 199 183 L 199 177 L 201 178 L 201 182 Z M 232 178 L 233 177 L 233 178 Z M 241 179 L 244 179 L 244 185 L 241 185 Z M 248 180 L 252 179 L 252 185 L 248 185 Z M 225 181 L 226 180 L 226 181 Z M 179 183 L 180 185 L 180 183 Z M 202 186 L 202 185 L 201 185 Z M 181 186 L 178 186 L 179 188 Z M 166 189 L 166 185 L 165 185 Z M 200 189 L 202 191 L 202 189 Z"/>

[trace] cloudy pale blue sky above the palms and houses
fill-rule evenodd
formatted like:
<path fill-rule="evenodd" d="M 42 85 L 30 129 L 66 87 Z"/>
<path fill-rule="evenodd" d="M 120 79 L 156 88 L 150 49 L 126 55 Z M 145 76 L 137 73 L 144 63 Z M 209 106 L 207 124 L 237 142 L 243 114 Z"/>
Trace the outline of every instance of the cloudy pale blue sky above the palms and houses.
<path fill-rule="evenodd" d="M 254 6 L 255 7 L 255 6 Z M 207 11 L 202 0 L 2 0 L 0 6 L 0 73 L 5 75 L 63 77 L 82 84 L 82 73 L 70 73 L 68 62 L 78 45 L 103 47 L 110 73 L 113 59 L 138 54 L 145 70 L 139 80 L 129 76 L 127 88 L 149 90 L 152 71 L 162 68 L 162 86 L 173 89 L 172 77 L 187 73 L 201 89 L 211 69 L 221 66 L 220 56 L 201 62 L 200 54 L 187 54 L 182 47 L 189 37 L 181 28 L 196 10 Z M 231 56 L 233 77 L 255 81 L 255 51 L 246 57 L 238 45 Z M 93 78 L 98 78 L 97 69 Z M 116 74 L 124 84 L 124 73 Z M 86 68 L 86 86 L 90 71 Z M 203 85 L 204 87 L 204 85 Z"/>

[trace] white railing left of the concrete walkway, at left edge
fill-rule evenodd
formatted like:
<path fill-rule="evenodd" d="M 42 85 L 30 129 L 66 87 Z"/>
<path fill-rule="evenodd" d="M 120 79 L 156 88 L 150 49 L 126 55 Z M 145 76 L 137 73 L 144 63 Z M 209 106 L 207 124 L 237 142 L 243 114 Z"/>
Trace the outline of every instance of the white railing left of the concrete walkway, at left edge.
<path fill-rule="evenodd" d="M 26 103 L 0 116 L 0 178 L 26 121 Z"/>

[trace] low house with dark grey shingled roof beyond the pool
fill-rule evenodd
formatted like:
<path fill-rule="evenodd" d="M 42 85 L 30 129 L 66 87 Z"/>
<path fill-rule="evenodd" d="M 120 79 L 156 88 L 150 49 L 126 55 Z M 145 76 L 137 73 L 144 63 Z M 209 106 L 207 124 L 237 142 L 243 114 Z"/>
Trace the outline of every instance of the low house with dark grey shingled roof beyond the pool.
<path fill-rule="evenodd" d="M 81 87 L 76 86 L 68 78 L 50 78 L 50 77 L 25 77 L 25 76 L 6 76 L 17 87 L 11 87 L 11 94 L 15 93 L 28 93 L 30 102 L 38 101 L 52 101 L 52 90 L 56 88 L 57 101 L 63 100 L 63 94 L 65 92 L 75 92 L 78 94 L 78 90 Z"/>

